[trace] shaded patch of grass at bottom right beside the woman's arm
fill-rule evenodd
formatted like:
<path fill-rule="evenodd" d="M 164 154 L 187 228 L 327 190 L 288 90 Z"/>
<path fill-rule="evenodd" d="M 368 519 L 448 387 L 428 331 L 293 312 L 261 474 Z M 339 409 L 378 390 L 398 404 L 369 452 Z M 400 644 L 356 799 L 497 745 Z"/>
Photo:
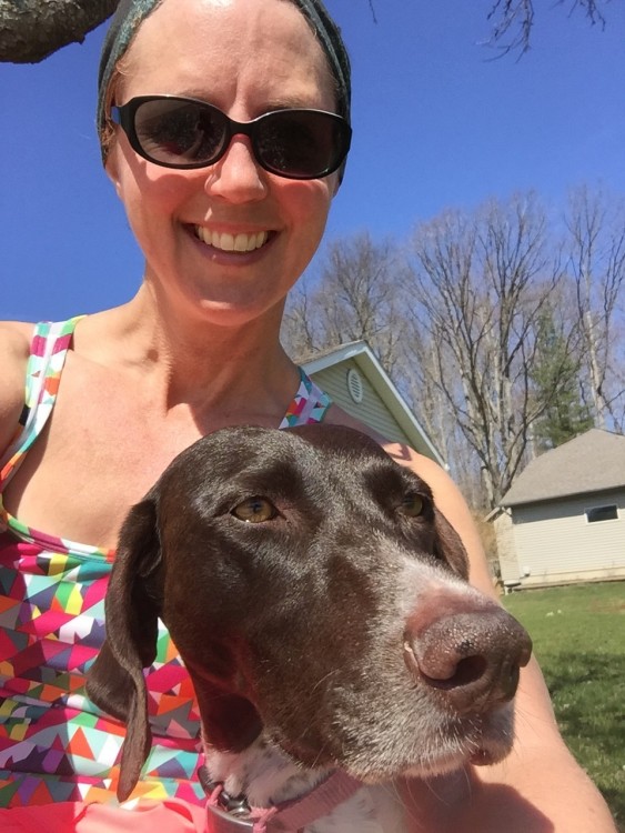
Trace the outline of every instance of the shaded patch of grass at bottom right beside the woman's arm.
<path fill-rule="evenodd" d="M 543 660 L 562 733 L 625 833 L 625 652 Z"/>

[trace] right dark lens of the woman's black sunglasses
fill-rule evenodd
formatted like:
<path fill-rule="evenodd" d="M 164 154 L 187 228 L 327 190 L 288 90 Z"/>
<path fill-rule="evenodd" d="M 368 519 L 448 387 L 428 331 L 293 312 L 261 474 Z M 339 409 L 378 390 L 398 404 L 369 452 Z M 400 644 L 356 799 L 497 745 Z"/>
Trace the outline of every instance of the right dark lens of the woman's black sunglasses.
<path fill-rule="evenodd" d="M 269 171 L 293 179 L 325 177 L 341 164 L 351 131 L 332 113 L 276 110 L 256 121 L 259 161 Z"/>

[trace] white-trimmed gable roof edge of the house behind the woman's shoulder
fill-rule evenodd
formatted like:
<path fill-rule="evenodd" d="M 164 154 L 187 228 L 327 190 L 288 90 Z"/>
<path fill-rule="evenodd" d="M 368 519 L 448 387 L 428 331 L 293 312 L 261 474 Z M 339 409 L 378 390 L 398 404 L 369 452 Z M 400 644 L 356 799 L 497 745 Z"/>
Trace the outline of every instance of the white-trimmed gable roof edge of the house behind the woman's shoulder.
<path fill-rule="evenodd" d="M 445 461 L 365 341 L 351 341 L 337 348 L 315 353 L 312 357 L 299 358 L 298 363 L 312 377 L 326 368 L 347 360 L 353 360 L 363 375 L 369 379 L 377 395 L 409 438 L 411 445 L 416 451 L 426 454 L 440 465 L 446 468 Z"/>

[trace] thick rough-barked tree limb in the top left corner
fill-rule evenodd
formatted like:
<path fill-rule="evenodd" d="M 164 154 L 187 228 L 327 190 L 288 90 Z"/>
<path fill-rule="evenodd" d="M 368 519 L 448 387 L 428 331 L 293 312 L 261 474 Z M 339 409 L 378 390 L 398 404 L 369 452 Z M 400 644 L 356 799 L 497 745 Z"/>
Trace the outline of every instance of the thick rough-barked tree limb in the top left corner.
<path fill-rule="evenodd" d="M 38 63 L 103 23 L 118 0 L 0 0 L 0 61 Z"/>

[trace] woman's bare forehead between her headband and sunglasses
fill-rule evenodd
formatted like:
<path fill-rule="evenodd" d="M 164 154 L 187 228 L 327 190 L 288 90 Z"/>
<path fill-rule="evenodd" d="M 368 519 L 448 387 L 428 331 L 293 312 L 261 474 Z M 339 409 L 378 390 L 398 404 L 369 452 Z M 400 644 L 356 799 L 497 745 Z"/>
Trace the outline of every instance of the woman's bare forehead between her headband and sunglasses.
<path fill-rule="evenodd" d="M 129 97 L 194 94 L 221 107 L 335 101 L 323 50 L 288 0 L 163 0 L 124 58 L 122 86 Z"/>

